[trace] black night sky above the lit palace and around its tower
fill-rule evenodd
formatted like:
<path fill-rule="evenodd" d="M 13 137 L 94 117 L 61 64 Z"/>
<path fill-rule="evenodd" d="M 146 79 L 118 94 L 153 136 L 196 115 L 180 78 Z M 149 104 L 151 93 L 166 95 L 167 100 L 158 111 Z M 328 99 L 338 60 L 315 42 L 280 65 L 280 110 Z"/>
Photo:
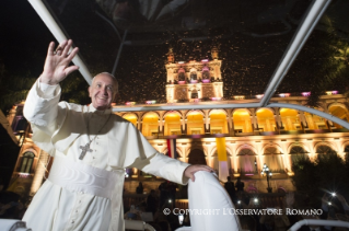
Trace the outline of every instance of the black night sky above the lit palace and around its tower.
<path fill-rule="evenodd" d="M 98 11 L 112 19 L 108 8 L 90 0 L 47 2 L 66 34 L 80 48 L 80 55 L 92 74 L 112 72 L 120 41 L 112 26 L 95 14 Z M 163 1 L 164 4 L 168 2 Z M 283 2 L 276 0 L 194 0 L 173 19 L 158 24 L 140 19 L 135 13 L 139 5 L 129 3 L 133 11 L 123 16 L 133 27 L 126 39 L 132 44 L 151 41 L 153 45 L 124 46 L 115 73 L 120 85 L 117 102 L 165 102 L 164 65 L 170 47 L 174 48 L 177 61 L 189 61 L 210 58 L 211 47 L 218 46 L 219 57 L 223 60 L 221 70 L 225 99 L 263 93 L 310 2 L 295 0 L 292 5 L 283 5 Z M 3 0 L 1 4 L 0 96 L 4 97 L 9 93 L 9 78 L 21 77 L 34 81 L 39 76 L 47 45 L 55 38 L 26 0 Z M 347 21 L 338 12 L 344 8 L 340 4 L 348 5 L 346 1 L 334 1 L 326 14 L 326 20 L 331 20 L 335 27 L 333 33 L 327 32 L 330 30 L 324 20 L 322 27 L 309 38 L 277 93 L 314 90 L 315 83 L 322 81 L 326 71 L 330 72 L 333 67 L 328 60 L 335 50 L 329 42 L 348 42 L 347 24 L 340 24 Z M 125 27 L 123 22 L 114 21 L 120 34 Z M 338 84 L 340 78 L 329 85 L 326 83 L 326 88 L 336 88 L 327 90 L 345 91 L 345 84 Z M 72 74 L 62 84 L 67 89 L 62 100 L 89 102 L 83 93 L 88 85 L 80 73 Z M 26 88 L 25 84 L 12 83 L 11 91 L 25 91 Z"/>

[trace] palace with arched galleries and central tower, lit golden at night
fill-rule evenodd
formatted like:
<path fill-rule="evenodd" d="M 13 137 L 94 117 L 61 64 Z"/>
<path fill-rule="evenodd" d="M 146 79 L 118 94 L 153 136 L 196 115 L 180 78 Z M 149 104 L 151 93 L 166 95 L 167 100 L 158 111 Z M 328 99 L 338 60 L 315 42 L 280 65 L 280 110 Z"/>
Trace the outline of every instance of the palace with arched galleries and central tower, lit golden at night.
<path fill-rule="evenodd" d="M 234 95 L 234 100 L 223 101 L 221 63 L 217 48 L 211 50 L 211 60 L 175 61 L 170 49 L 167 54 L 167 104 L 154 101 L 143 102 L 143 108 L 161 105 L 216 105 L 259 102 L 263 95 L 245 99 Z M 300 95 L 283 93 L 275 95 L 272 102 L 304 105 L 310 92 Z M 160 152 L 167 153 L 166 139 L 176 139 L 178 159 L 189 163 L 208 164 L 220 169 L 217 138 L 224 137 L 228 175 L 241 176 L 245 190 L 267 192 L 266 177 L 260 174 L 267 164 L 272 172 L 274 192 L 294 190 L 291 183 L 292 164 L 298 158 L 313 160 L 319 153 L 336 151 L 344 157 L 349 152 L 349 134 L 341 126 L 291 108 L 228 108 L 228 109 L 183 109 L 126 112 L 135 105 L 114 106 L 117 114 L 131 122 Z M 150 104 L 150 105 L 148 105 Z M 349 120 L 349 104 L 345 95 L 328 91 L 321 96 L 317 109 Z M 14 130 L 22 119 L 21 108 L 11 111 L 9 120 Z M 123 111 L 125 109 L 125 111 Z M 12 189 L 19 193 L 35 194 L 49 170 L 48 154 L 39 150 L 30 136 L 25 138 L 13 172 Z M 156 188 L 154 176 L 127 170 L 126 190 L 132 192 L 138 181 L 149 181 L 149 188 Z M 225 181 L 226 175 L 220 174 Z M 156 181 L 155 181 L 156 182 Z M 147 185 L 147 184 L 146 184 Z"/>

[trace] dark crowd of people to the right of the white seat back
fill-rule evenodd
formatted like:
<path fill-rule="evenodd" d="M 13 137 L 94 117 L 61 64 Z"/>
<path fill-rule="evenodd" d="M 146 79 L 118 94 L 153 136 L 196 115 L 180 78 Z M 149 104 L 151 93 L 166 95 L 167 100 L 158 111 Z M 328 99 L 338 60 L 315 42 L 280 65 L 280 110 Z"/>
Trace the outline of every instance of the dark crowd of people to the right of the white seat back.
<path fill-rule="evenodd" d="M 286 231 L 292 227 L 295 222 L 303 219 L 324 219 L 324 220 L 341 220 L 349 221 L 349 206 L 345 197 L 340 194 L 326 192 L 322 198 L 321 208 L 314 208 L 310 206 L 309 196 L 302 194 L 288 193 L 283 197 L 282 205 L 276 206 L 275 208 L 268 208 L 264 204 L 264 200 L 258 197 L 252 196 L 244 192 L 244 183 L 239 177 L 236 183 L 231 181 L 229 176 L 224 183 L 229 196 L 231 197 L 235 208 L 243 209 L 271 209 L 272 215 L 253 215 L 253 216 L 240 216 L 241 226 L 246 230 L 257 231 Z M 321 209 L 321 216 L 309 216 L 309 215 L 294 215 L 287 211 L 292 210 L 314 210 Z M 330 231 L 330 230 L 346 230 L 335 227 L 319 227 L 319 226 L 304 226 L 300 230 L 302 231 Z M 348 230 L 348 229 L 347 229 Z"/>

